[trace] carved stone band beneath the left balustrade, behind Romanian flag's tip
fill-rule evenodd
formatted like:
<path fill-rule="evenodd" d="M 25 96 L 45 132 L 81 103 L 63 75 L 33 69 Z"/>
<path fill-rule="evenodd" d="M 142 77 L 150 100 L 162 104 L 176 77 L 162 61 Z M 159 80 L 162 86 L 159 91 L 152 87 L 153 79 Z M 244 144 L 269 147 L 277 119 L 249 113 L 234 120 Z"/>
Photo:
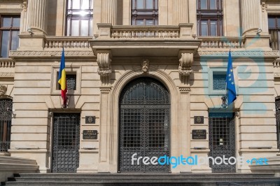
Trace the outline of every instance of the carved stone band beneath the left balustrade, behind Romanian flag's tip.
<path fill-rule="evenodd" d="M 62 51 L 10 51 L 10 57 L 59 57 L 62 55 Z M 65 51 L 65 57 L 94 57 L 92 51 Z"/>

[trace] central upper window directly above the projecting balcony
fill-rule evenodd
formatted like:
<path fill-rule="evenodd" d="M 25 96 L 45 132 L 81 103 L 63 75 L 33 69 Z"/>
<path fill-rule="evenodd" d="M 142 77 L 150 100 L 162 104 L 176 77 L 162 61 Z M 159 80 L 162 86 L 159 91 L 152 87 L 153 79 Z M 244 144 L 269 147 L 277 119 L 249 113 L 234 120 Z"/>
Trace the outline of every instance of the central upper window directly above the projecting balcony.
<path fill-rule="evenodd" d="M 158 0 L 132 0 L 132 25 L 158 25 Z"/>

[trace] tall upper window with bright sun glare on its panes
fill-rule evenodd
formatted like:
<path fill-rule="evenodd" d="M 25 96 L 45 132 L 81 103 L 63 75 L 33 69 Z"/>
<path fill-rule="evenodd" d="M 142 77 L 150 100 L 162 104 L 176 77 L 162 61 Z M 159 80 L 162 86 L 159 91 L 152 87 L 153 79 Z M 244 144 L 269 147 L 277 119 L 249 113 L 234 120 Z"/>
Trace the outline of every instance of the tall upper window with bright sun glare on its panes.
<path fill-rule="evenodd" d="M 68 0 L 67 36 L 92 36 L 92 0 Z"/>

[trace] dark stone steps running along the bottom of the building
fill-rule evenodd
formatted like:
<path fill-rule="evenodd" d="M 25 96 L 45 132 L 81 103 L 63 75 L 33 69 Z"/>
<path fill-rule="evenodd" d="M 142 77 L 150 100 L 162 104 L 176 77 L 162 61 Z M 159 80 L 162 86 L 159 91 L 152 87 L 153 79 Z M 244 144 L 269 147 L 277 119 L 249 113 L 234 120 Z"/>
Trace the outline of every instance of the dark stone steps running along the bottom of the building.
<path fill-rule="evenodd" d="M 280 178 L 265 173 L 21 173 L 6 185 L 267 185 Z"/>

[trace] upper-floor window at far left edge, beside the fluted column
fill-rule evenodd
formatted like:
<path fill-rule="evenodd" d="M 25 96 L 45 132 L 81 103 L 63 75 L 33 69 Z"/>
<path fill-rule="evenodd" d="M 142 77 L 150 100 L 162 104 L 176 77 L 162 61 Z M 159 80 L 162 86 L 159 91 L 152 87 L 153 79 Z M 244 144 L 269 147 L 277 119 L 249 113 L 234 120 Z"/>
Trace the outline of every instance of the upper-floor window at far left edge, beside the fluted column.
<path fill-rule="evenodd" d="M 1 28 L 1 57 L 8 57 L 10 50 L 18 48 L 18 34 L 20 33 L 20 16 L 2 15 L 0 16 Z"/>

